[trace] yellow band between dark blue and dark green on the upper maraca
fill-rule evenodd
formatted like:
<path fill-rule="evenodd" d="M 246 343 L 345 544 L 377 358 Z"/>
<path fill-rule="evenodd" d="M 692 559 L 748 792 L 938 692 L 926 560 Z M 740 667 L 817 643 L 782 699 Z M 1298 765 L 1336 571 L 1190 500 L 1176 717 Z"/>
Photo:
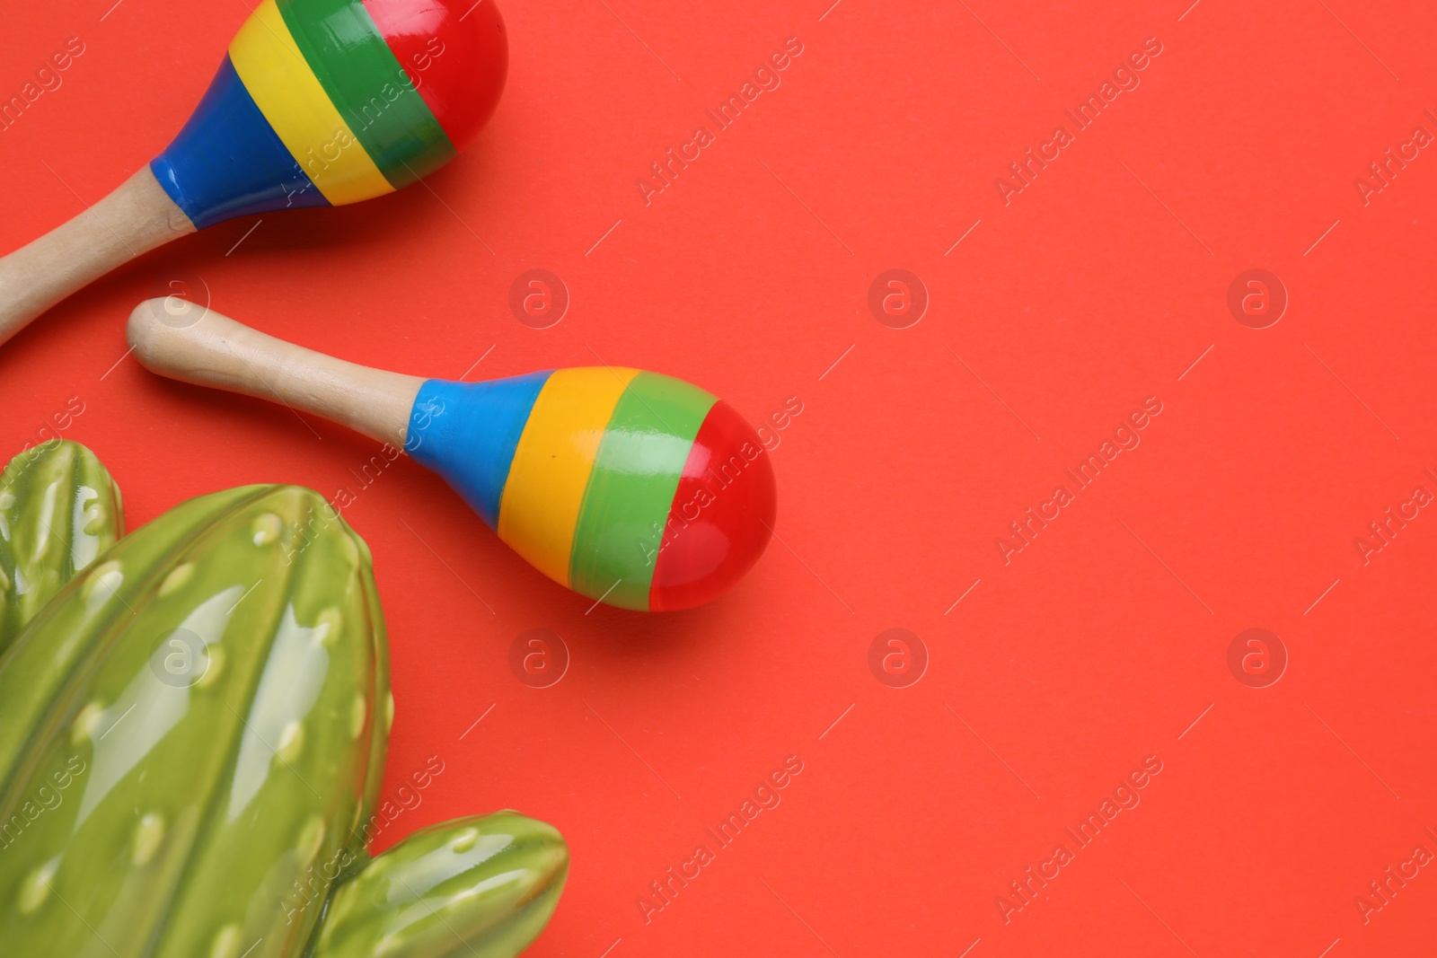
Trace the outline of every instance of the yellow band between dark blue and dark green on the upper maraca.
<path fill-rule="evenodd" d="M 264 119 L 331 205 L 394 191 L 325 93 L 274 0 L 256 7 L 234 34 L 230 60 Z"/>

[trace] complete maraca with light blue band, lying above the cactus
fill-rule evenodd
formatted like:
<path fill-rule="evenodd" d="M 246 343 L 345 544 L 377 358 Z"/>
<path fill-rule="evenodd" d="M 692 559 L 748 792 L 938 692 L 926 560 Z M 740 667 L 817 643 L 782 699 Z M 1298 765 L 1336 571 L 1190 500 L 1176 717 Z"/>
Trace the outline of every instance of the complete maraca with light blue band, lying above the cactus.
<path fill-rule="evenodd" d="M 285 402 L 404 448 L 540 572 L 612 606 L 703 605 L 769 541 L 763 444 L 733 406 L 681 379 L 615 366 L 422 379 L 180 299 L 138 306 L 129 345 L 161 375 Z"/>

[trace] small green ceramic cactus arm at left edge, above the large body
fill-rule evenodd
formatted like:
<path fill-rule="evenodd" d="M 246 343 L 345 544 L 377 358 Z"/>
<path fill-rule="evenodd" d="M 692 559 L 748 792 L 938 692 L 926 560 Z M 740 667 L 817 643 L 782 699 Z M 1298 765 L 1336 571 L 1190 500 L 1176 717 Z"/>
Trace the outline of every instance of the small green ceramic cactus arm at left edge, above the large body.
<path fill-rule="evenodd" d="M 0 655 L 124 534 L 119 487 L 79 442 L 50 440 L 0 474 Z"/>

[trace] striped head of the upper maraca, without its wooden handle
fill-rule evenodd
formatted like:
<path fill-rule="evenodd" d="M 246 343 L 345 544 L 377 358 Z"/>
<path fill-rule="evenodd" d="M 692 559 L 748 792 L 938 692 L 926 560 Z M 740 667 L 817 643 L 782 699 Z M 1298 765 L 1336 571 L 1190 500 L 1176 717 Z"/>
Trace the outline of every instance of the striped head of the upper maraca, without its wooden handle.
<path fill-rule="evenodd" d="M 493 113 L 507 69 L 493 3 L 457 6 L 264 0 L 155 177 L 204 228 L 428 175 Z"/>

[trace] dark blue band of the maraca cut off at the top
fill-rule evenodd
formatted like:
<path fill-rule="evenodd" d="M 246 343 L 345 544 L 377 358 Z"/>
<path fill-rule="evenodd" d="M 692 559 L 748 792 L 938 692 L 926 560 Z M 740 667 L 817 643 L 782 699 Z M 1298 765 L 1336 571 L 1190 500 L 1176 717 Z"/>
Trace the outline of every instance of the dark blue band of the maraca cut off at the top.
<path fill-rule="evenodd" d="M 149 164 L 198 228 L 292 207 L 328 207 L 254 105 L 228 56 L 190 121 Z"/>

